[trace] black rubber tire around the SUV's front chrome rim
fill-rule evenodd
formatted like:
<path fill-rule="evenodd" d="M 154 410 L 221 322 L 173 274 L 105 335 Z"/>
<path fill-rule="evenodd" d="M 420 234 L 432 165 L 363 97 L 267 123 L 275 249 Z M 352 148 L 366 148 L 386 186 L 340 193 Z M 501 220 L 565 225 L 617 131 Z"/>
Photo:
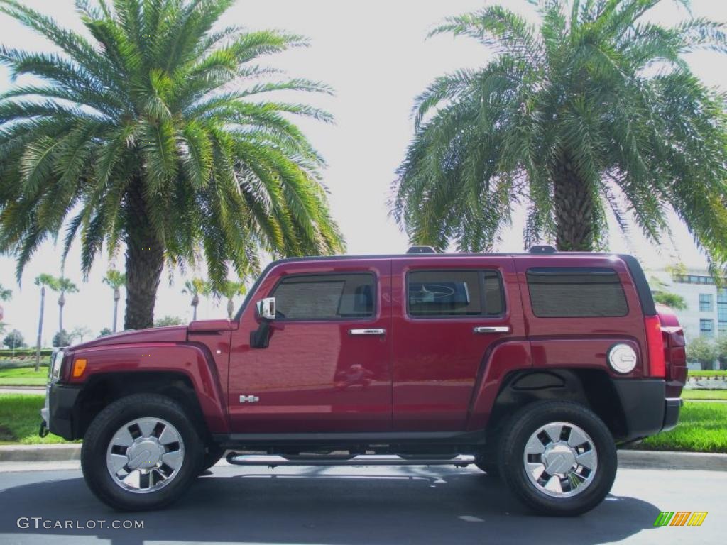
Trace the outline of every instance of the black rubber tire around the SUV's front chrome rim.
<path fill-rule="evenodd" d="M 184 442 L 184 459 L 174 479 L 158 491 L 127 491 L 111 477 L 106 453 L 114 434 L 129 421 L 143 417 L 164 419 L 176 427 Z M 158 394 L 133 394 L 114 401 L 91 422 L 81 446 L 81 470 L 92 493 L 120 511 L 160 509 L 179 498 L 196 479 L 204 456 L 196 427 L 174 400 Z"/>

